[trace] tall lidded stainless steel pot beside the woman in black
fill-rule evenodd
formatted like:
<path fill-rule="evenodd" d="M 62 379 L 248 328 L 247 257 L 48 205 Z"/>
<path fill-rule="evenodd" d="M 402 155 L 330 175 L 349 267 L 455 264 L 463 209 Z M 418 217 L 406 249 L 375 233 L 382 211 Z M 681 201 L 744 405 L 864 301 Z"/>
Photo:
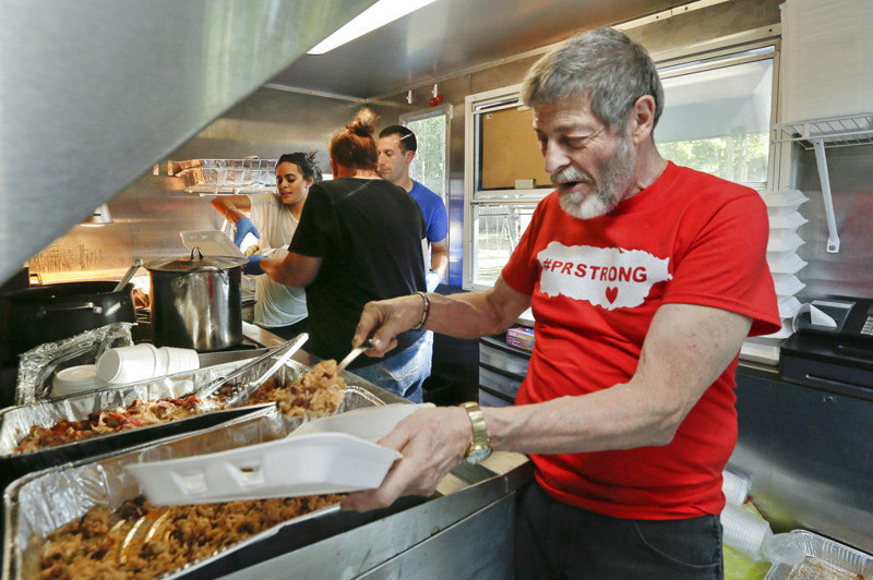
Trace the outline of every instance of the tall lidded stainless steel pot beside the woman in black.
<path fill-rule="evenodd" d="M 190 257 L 151 262 L 153 341 L 207 352 L 242 341 L 240 279 L 244 258 Z"/>

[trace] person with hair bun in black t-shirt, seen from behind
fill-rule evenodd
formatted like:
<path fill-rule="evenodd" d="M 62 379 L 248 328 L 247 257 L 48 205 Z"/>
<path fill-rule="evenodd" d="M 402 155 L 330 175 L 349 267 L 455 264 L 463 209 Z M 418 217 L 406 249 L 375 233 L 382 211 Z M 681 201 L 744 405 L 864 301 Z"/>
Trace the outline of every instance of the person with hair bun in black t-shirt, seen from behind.
<path fill-rule="evenodd" d="M 343 359 L 363 305 L 423 292 L 424 218 L 415 200 L 383 180 L 373 130 L 376 117 L 361 109 L 331 141 L 334 180 L 314 184 L 284 259 L 259 265 L 273 280 L 306 287 L 310 341 L 322 359 Z M 359 357 L 349 370 L 392 392 L 421 402 L 430 375 L 423 330 L 397 336 L 384 359 Z"/>

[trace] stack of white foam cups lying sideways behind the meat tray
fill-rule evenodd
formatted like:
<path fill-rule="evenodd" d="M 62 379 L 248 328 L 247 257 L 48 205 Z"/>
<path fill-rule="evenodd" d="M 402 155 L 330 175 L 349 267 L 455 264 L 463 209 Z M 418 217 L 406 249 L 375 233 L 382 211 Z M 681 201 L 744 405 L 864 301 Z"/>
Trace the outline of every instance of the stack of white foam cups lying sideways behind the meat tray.
<path fill-rule="evenodd" d="M 191 349 L 156 348 L 143 342 L 109 349 L 97 360 L 97 378 L 108 385 L 125 385 L 200 367 Z"/>

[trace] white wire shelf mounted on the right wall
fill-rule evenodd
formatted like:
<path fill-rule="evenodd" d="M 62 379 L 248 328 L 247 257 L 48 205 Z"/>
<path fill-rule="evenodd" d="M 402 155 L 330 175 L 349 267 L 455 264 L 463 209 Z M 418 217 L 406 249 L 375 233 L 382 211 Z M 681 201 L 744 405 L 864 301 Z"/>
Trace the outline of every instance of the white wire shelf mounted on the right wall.
<path fill-rule="evenodd" d="M 815 142 L 825 147 L 850 147 L 873 143 L 873 113 L 834 117 L 775 125 L 775 143 L 797 142 L 812 149 Z"/>

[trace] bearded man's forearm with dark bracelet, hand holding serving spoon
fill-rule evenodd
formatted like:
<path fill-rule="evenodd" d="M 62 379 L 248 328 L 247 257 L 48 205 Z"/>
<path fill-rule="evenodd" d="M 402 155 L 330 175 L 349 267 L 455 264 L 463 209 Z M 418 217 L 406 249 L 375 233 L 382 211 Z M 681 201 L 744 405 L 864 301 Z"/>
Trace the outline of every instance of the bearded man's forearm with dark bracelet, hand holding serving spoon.
<path fill-rule="evenodd" d="M 498 278 L 485 292 L 440 295 L 429 293 L 430 314 L 424 328 L 456 338 L 479 338 L 501 333 L 530 306 L 530 297 Z M 382 357 L 397 345 L 394 338 L 421 322 L 424 301 L 418 294 L 368 302 L 351 342 L 361 345 L 373 335 L 372 357 Z"/>

